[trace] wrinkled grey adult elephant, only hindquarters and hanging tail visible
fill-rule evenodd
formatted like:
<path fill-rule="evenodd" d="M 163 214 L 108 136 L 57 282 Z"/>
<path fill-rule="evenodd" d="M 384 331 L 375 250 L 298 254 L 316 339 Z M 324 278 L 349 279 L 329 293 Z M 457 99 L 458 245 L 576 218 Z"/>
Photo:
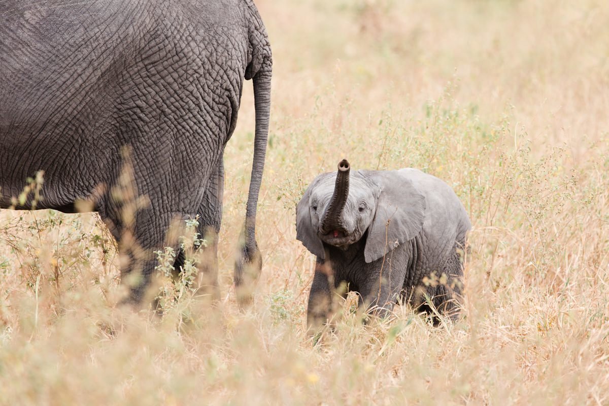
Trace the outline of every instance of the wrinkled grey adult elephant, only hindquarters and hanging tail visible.
<path fill-rule="evenodd" d="M 15 206 L 12 197 L 38 170 L 43 200 L 34 206 L 29 197 L 16 208 L 69 212 L 77 200 L 94 201 L 128 254 L 121 275 L 139 264 L 135 302 L 170 223 L 199 215 L 200 232 L 216 232 L 214 273 L 222 153 L 243 79 L 253 79 L 253 169 L 236 282 L 245 265 L 259 270 L 255 216 L 272 60 L 251 0 L 0 0 L 0 19 L 1 208 Z M 130 173 L 149 200 L 131 217 Z M 125 237 L 128 230 L 135 238 Z"/>

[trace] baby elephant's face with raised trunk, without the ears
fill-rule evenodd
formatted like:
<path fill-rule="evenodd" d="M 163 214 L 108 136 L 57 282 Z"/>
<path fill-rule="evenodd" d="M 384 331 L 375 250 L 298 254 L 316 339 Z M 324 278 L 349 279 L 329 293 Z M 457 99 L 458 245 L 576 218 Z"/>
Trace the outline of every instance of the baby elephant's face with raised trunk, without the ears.
<path fill-rule="evenodd" d="M 317 237 L 347 248 L 362 238 L 376 211 L 378 187 L 360 173 L 351 173 L 347 159 L 336 173 L 325 173 L 309 195 L 309 215 Z"/>

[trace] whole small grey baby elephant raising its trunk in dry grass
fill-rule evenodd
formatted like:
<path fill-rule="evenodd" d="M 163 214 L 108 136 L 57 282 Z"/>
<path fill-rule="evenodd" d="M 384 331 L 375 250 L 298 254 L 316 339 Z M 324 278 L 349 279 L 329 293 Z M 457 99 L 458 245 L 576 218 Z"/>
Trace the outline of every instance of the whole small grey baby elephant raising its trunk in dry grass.
<path fill-rule="evenodd" d="M 456 318 L 470 228 L 442 180 L 411 168 L 350 173 L 343 159 L 337 172 L 315 178 L 296 208 L 297 239 L 317 256 L 309 334 L 331 318 L 331 292 L 342 282 L 381 317 L 401 297 Z"/>

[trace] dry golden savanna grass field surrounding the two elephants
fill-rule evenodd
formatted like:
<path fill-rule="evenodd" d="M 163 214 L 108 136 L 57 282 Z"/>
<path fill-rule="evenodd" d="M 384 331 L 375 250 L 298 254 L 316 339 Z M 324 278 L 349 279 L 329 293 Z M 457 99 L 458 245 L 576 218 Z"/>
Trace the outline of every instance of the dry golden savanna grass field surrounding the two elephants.
<path fill-rule="evenodd" d="M 254 303 L 239 310 L 232 276 L 247 82 L 216 309 L 160 278 L 162 319 L 120 310 L 97 215 L 0 211 L 0 404 L 609 404 L 609 4 L 256 4 L 274 66 Z M 336 332 L 308 340 L 314 257 L 295 205 L 343 158 L 454 188 L 473 223 L 461 320 L 396 306 L 362 326 L 350 295 Z"/>

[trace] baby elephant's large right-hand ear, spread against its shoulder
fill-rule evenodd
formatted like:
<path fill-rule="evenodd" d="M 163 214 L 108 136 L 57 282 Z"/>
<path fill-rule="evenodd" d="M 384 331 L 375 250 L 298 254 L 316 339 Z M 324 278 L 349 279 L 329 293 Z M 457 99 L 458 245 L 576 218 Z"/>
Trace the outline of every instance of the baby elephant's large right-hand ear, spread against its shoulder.
<path fill-rule="evenodd" d="M 421 232 L 425 197 L 397 170 L 370 172 L 367 177 L 381 189 L 364 249 L 365 261 L 373 262 Z"/>

